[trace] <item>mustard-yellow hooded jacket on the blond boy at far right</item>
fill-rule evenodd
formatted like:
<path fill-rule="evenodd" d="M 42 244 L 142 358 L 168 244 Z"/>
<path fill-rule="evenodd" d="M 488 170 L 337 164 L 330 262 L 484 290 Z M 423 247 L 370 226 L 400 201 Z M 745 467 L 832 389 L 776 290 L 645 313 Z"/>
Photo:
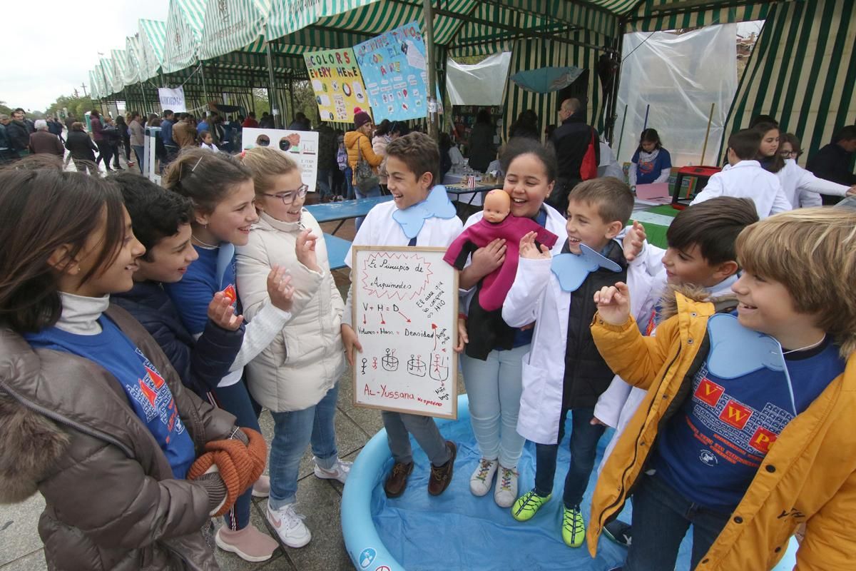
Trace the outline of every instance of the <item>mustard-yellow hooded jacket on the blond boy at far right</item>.
<path fill-rule="evenodd" d="M 709 350 L 710 303 L 675 294 L 677 313 L 645 337 L 633 323 L 603 322 L 591 335 L 603 359 L 627 383 L 648 390 L 609 456 L 591 501 L 587 532 L 591 555 L 603 524 L 621 511 L 627 492 L 665 421 L 681 407 L 693 374 Z M 797 567 L 823 571 L 856 569 L 856 357 L 793 419 L 770 447 L 746 496 L 698 564 L 699 571 L 761 571 L 775 567 L 797 526 L 806 524 Z"/>

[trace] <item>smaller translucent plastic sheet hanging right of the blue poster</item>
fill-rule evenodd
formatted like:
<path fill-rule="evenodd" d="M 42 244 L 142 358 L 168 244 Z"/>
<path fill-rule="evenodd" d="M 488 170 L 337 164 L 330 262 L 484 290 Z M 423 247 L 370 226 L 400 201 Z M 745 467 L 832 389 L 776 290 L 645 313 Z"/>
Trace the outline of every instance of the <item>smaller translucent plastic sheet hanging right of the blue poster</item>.
<path fill-rule="evenodd" d="M 502 105 L 511 52 L 493 54 L 475 65 L 446 60 L 446 88 L 453 105 Z"/>

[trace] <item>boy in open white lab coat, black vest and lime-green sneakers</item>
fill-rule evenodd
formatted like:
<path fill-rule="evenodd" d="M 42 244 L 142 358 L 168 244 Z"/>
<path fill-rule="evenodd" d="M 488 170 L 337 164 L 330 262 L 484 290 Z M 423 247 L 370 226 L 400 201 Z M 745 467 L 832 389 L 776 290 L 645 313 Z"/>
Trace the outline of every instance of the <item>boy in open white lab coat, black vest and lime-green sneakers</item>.
<path fill-rule="evenodd" d="M 580 503 L 604 426 L 592 424 L 597 397 L 614 378 L 591 339 L 596 311 L 593 294 L 603 284 L 627 282 L 639 300 L 633 314 L 644 323 L 651 315 L 653 278 L 643 264 L 627 263 L 616 237 L 633 212 L 633 194 L 622 181 L 603 177 L 585 181 L 568 196 L 568 241 L 555 257 L 534 244 L 520 242 L 520 264 L 502 306 L 511 327 L 535 322 L 532 348 L 523 357 L 523 393 L 517 431 L 536 443 L 535 487 L 511 509 L 526 521 L 550 500 L 556 455 L 565 417 L 573 412 L 571 465 L 563 493 L 562 539 L 579 547 L 586 535 Z M 635 303 L 635 301 L 634 301 Z"/>

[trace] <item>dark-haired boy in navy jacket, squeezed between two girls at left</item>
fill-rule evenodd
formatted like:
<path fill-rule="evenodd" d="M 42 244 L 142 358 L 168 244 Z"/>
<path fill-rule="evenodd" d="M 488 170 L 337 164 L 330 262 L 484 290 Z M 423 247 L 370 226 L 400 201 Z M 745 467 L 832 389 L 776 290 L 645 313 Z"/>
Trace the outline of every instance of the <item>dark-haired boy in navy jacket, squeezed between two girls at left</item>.
<path fill-rule="evenodd" d="M 134 235 L 146 247 L 146 254 L 137 262 L 140 269 L 134 272 L 134 288 L 111 295 L 110 299 L 133 315 L 155 338 L 181 376 L 181 382 L 206 398 L 206 393 L 217 386 L 235 361 L 244 327 L 229 330 L 210 318 L 202 335 L 194 341 L 163 291 L 162 283 L 181 280 L 187 265 L 199 257 L 190 242 L 193 205 L 180 194 L 169 193 L 137 174 L 122 173 L 111 180 L 122 189 Z M 209 315 L 212 308 L 221 305 L 231 312 L 228 300 L 213 301 Z"/>

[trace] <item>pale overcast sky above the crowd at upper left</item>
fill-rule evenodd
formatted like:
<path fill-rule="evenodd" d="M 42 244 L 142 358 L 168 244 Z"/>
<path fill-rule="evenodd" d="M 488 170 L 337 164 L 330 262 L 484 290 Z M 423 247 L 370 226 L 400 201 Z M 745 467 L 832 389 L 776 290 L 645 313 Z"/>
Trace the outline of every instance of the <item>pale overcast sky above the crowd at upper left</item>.
<path fill-rule="evenodd" d="M 76 24 L 66 9 L 74 6 Z M 0 75 L 0 101 L 15 109 L 45 110 L 74 88 L 89 92 L 89 70 L 98 63 L 98 52 L 124 50 L 125 39 L 137 32 L 137 21 L 166 20 L 169 0 L 146 2 L 95 2 L 94 0 L 29 0 L 19 12 L 33 16 L 24 21 L 7 20 L 3 26 L 4 59 Z M 73 26 L 73 27 L 72 27 Z"/>

